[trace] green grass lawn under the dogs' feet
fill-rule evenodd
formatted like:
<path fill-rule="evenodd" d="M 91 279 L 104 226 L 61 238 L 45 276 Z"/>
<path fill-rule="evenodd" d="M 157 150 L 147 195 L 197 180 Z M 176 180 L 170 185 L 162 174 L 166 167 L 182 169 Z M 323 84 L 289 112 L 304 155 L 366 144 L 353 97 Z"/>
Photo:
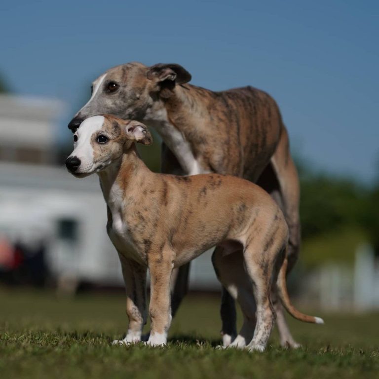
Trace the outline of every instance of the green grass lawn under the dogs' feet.
<path fill-rule="evenodd" d="M 166 348 L 112 346 L 125 331 L 121 295 L 56 299 L 0 289 L 0 378 L 378 378 L 379 314 L 290 320 L 299 350 L 276 333 L 265 353 L 216 350 L 217 297 L 188 297 Z"/>

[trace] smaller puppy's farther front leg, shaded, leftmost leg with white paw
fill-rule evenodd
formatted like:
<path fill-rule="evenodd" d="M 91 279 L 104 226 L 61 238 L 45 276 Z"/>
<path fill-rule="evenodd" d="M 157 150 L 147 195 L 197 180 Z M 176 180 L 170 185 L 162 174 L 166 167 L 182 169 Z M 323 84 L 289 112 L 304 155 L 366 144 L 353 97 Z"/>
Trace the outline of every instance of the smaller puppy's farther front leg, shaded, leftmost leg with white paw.
<path fill-rule="evenodd" d="M 126 314 L 129 326 L 122 340 L 113 344 L 129 344 L 141 341 L 142 328 L 146 324 L 146 273 L 147 267 L 126 259 L 121 254 L 122 276 L 126 290 Z"/>

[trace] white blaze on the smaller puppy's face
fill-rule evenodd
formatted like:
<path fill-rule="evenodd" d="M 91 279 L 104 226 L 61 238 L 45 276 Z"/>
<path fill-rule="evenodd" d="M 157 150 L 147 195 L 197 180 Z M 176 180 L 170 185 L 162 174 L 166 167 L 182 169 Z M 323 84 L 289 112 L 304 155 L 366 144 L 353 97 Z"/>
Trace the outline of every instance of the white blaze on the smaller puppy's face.
<path fill-rule="evenodd" d="M 105 118 L 104 116 L 92 116 L 86 118 L 77 129 L 77 141 L 74 142 L 74 151 L 72 156 L 80 159 L 80 166 L 76 173 L 87 173 L 93 171 L 93 147 L 91 144 L 94 133 L 102 129 Z"/>

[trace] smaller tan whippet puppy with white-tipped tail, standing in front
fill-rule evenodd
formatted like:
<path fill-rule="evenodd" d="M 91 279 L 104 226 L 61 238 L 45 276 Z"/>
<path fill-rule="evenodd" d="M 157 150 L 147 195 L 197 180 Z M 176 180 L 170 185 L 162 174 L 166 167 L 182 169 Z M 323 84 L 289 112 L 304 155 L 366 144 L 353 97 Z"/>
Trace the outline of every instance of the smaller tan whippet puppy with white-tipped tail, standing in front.
<path fill-rule="evenodd" d="M 217 275 L 244 314 L 233 346 L 265 349 L 275 319 L 271 285 L 277 286 L 291 315 L 323 322 L 300 313 L 289 301 L 289 231 L 282 211 L 265 190 L 244 179 L 219 174 L 183 177 L 153 173 L 139 158 L 135 142 L 152 143 L 144 124 L 111 115 L 92 116 L 76 131 L 74 151 L 66 160 L 67 168 L 78 178 L 94 172 L 99 175 L 107 203 L 107 231 L 120 256 L 129 317 L 126 337 L 115 343 L 141 341 L 149 268 L 151 334 L 147 343 L 166 344 L 172 271 L 215 245 L 223 248 L 213 257 L 221 261 Z M 233 272 L 234 264 L 223 259 L 241 248 L 242 276 L 240 270 Z"/>

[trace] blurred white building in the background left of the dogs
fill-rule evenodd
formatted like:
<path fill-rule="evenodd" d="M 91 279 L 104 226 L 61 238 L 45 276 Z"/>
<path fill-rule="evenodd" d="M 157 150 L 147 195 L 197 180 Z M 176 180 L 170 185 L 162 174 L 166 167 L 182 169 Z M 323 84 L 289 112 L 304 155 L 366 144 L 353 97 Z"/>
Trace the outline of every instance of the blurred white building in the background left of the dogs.
<path fill-rule="evenodd" d="M 54 165 L 63 110 L 59 101 L 0 96 L 0 237 L 43 241 L 48 267 L 63 287 L 122 285 L 98 177 L 76 179 Z M 192 264 L 191 288 L 220 288 L 210 253 Z"/>

